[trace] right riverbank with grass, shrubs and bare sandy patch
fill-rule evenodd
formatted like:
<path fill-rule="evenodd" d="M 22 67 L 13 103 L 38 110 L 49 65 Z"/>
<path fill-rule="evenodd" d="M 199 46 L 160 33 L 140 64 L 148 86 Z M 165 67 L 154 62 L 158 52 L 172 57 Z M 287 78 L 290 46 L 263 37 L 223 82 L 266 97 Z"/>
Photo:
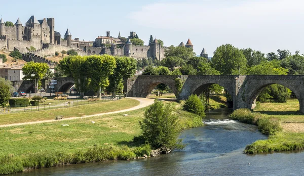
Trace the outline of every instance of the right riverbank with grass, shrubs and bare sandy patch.
<path fill-rule="evenodd" d="M 264 103 L 254 112 L 240 109 L 230 115 L 232 119 L 255 124 L 267 140 L 248 145 L 244 153 L 296 151 L 304 149 L 304 114 L 298 111 L 296 99 L 287 103 Z"/>

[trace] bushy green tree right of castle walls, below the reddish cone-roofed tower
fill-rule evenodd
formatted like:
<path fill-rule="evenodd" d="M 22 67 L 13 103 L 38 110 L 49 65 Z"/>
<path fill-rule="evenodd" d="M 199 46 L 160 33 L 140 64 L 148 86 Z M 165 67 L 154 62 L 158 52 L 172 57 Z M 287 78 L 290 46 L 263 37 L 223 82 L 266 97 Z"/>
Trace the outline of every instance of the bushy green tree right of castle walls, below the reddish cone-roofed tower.
<path fill-rule="evenodd" d="M 187 62 L 190 58 L 195 56 L 193 52 L 193 48 L 186 48 L 186 47 L 174 47 L 170 46 L 167 50 L 165 50 L 164 57 L 179 57 Z"/>

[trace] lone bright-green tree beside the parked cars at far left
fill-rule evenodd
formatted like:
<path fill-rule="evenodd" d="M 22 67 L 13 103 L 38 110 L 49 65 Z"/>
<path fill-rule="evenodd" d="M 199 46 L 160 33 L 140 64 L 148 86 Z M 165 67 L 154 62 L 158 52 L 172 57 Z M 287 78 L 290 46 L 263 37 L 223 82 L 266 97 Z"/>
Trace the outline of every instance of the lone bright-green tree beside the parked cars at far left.
<path fill-rule="evenodd" d="M 47 63 L 28 62 L 22 67 L 23 79 L 32 80 L 35 84 L 35 93 L 41 85 L 41 79 L 45 77 L 49 66 Z"/>

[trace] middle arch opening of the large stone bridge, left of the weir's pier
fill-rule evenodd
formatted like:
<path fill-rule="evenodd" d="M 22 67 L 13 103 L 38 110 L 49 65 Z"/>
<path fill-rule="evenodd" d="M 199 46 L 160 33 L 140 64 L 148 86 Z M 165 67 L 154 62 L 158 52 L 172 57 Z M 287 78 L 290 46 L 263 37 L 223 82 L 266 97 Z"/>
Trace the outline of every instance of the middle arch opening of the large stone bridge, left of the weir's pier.
<path fill-rule="evenodd" d="M 199 96 L 203 94 L 206 98 L 206 103 L 209 104 L 209 99 L 221 102 L 226 104 L 228 107 L 233 107 L 233 92 L 229 89 L 226 89 L 225 86 L 222 86 L 218 83 L 205 83 L 199 86 L 193 94 Z M 226 98 L 223 100 L 220 96 Z"/>

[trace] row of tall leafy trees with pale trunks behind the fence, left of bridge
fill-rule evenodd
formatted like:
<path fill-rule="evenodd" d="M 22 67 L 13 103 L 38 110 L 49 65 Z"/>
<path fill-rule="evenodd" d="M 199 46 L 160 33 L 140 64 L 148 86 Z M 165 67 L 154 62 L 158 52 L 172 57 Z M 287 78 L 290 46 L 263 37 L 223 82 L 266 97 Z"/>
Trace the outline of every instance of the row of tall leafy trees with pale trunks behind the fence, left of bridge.
<path fill-rule="evenodd" d="M 111 91 L 113 96 L 123 87 L 123 79 L 131 77 L 136 71 L 136 61 L 128 57 L 102 56 L 68 56 L 58 65 L 63 75 L 73 77 L 75 86 L 83 97 L 88 90 Z"/>

